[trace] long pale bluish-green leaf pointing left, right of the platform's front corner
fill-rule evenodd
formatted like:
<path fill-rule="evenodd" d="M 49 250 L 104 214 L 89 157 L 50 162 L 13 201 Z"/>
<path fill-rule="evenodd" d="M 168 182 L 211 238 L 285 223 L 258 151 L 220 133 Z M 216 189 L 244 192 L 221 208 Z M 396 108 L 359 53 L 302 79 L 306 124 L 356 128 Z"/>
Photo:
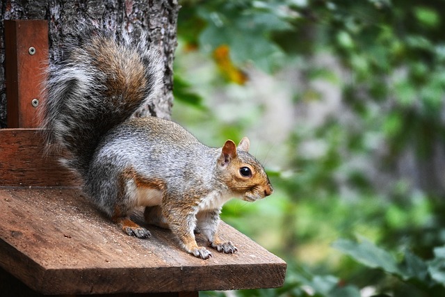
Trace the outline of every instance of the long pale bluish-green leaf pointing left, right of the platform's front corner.
<path fill-rule="evenodd" d="M 401 275 L 396 259 L 389 252 L 378 248 L 373 243 L 363 240 L 360 243 L 348 239 L 339 239 L 332 246 L 341 252 L 353 257 L 371 268 L 380 268 L 387 273 Z"/>

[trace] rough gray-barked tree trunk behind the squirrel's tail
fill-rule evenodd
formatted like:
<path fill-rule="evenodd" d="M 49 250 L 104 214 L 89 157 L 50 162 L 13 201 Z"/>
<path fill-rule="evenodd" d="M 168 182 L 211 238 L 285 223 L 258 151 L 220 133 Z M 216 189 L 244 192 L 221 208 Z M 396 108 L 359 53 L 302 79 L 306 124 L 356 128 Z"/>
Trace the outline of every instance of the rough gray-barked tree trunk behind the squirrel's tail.
<path fill-rule="evenodd" d="M 177 0 L 34 0 L 1 1 L 2 19 L 48 19 L 49 60 L 60 57 L 63 37 L 76 22 L 95 19 L 104 28 L 128 31 L 138 37 L 147 31 L 147 38 L 163 49 L 165 78 L 163 96 L 138 112 L 170 118 L 172 106 L 173 57 L 177 45 Z M 0 128 L 6 127 L 5 40 L 3 22 L 0 23 Z"/>

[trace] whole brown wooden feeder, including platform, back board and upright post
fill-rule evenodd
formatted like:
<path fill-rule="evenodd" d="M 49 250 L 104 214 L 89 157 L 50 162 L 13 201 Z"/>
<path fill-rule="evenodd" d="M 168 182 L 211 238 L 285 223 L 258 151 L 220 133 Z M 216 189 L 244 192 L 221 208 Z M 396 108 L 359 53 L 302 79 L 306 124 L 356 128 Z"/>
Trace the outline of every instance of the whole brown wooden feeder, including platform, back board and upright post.
<path fill-rule="evenodd" d="M 196 297 L 281 287 L 286 263 L 229 225 L 220 234 L 238 252 L 213 251 L 208 260 L 180 250 L 169 230 L 147 226 L 152 238 L 128 236 L 90 204 L 57 156 L 42 156 L 42 135 L 30 128 L 44 101 L 47 33 L 46 21 L 5 22 L 8 127 L 17 129 L 0 129 L 0 296 Z M 141 211 L 134 219 L 144 225 Z"/>

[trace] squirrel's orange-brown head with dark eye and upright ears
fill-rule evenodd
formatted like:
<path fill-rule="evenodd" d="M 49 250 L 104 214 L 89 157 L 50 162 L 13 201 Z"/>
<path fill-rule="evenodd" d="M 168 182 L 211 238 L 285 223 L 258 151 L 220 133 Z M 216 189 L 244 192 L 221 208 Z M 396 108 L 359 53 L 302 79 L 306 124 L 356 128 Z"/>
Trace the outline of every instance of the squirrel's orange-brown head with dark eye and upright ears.
<path fill-rule="evenodd" d="M 236 197 L 253 202 L 272 194 L 273 188 L 261 163 L 249 154 L 249 147 L 247 137 L 241 139 L 238 147 L 233 141 L 226 141 L 218 158 L 218 169 Z"/>

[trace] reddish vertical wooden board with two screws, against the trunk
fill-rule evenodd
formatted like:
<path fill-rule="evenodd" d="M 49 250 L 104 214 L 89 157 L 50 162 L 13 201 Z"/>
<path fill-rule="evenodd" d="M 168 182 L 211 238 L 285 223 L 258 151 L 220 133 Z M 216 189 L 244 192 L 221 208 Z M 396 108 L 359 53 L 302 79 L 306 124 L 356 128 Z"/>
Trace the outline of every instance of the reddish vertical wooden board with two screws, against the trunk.
<path fill-rule="evenodd" d="M 41 89 L 48 67 L 48 22 L 43 19 L 5 20 L 6 98 L 9 128 L 40 124 Z M 33 105 L 37 99 L 37 107 Z"/>

